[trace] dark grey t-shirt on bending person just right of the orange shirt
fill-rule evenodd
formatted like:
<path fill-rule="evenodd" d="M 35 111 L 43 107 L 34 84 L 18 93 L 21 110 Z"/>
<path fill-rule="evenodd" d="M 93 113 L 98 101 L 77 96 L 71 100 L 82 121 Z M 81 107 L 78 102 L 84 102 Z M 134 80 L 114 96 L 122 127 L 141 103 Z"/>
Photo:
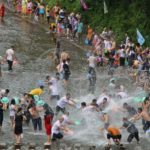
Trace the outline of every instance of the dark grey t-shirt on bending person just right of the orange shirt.
<path fill-rule="evenodd" d="M 123 127 L 127 128 L 127 131 L 129 133 L 138 132 L 138 129 L 136 128 L 136 126 L 130 121 L 124 121 Z"/>

